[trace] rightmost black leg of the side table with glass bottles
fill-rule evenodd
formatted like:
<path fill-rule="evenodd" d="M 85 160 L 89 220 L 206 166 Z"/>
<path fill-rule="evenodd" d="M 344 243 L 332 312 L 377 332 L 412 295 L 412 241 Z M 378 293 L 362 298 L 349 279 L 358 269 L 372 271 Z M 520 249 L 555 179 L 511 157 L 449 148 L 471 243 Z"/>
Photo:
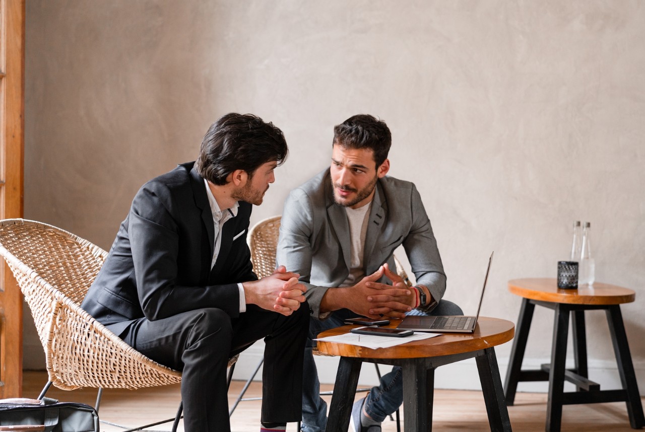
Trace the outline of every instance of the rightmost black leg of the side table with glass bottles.
<path fill-rule="evenodd" d="M 620 306 L 613 305 L 606 310 L 607 322 L 611 333 L 611 343 L 616 355 L 618 372 L 622 388 L 627 393 L 627 413 L 630 416 L 630 425 L 632 429 L 640 429 L 645 426 L 643 417 L 643 407 L 640 404 L 639 386 L 636 382 L 634 366 L 631 362 L 630 346 L 627 342 L 625 326 L 622 323 L 622 313 Z"/>

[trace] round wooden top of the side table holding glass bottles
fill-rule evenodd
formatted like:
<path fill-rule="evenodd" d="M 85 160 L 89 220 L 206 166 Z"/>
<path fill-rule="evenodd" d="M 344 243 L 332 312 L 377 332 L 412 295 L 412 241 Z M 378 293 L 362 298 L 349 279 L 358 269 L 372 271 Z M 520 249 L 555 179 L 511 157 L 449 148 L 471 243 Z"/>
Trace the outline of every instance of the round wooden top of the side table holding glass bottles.
<path fill-rule="evenodd" d="M 508 281 L 508 290 L 525 299 L 566 304 L 622 304 L 636 298 L 636 293 L 629 288 L 602 282 L 565 290 L 558 288 L 555 278 L 512 279 Z"/>

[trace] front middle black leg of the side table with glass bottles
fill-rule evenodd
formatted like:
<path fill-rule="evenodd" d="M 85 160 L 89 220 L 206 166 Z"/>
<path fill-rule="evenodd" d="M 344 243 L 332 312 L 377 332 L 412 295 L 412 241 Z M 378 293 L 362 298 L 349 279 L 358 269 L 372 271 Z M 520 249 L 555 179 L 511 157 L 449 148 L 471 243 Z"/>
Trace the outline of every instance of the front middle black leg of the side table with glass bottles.
<path fill-rule="evenodd" d="M 569 332 L 570 308 L 564 304 L 555 306 L 553 342 L 551 346 L 551 369 L 549 372 L 549 400 L 546 406 L 546 432 L 559 432 L 562 422 L 564 392 L 564 368 L 566 340 Z"/>

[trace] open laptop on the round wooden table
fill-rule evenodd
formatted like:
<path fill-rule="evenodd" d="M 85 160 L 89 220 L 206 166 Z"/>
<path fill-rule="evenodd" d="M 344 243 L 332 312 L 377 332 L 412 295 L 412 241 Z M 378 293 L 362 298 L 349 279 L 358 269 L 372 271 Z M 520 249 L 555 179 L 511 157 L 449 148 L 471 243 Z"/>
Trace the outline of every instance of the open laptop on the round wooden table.
<path fill-rule="evenodd" d="M 484 290 L 486 290 L 486 281 L 488 280 L 488 272 L 490 271 L 491 262 L 493 262 L 492 252 L 488 259 L 488 268 L 486 269 L 486 277 L 484 277 L 482 293 L 479 296 L 477 315 L 474 317 L 461 315 L 444 315 L 438 317 L 409 315 L 401 321 L 401 324 L 399 324 L 397 328 L 413 331 L 428 331 L 430 333 L 473 333 L 473 331 L 475 331 L 477 319 L 479 318 L 479 309 L 482 307 L 482 300 L 484 299 Z"/>

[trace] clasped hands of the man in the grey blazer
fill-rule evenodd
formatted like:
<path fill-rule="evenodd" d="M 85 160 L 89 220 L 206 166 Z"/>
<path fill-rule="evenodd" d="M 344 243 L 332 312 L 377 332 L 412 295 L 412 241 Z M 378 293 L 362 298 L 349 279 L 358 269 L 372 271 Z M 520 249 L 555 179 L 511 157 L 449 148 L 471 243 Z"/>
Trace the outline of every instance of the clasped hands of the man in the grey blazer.
<path fill-rule="evenodd" d="M 377 282 L 382 276 L 390 279 L 392 285 Z M 352 311 L 374 319 L 383 316 L 404 318 L 405 313 L 412 310 L 417 299 L 415 290 L 408 287 L 401 276 L 390 270 L 387 263 L 372 275 L 361 279 L 350 292 L 357 296 Z"/>

